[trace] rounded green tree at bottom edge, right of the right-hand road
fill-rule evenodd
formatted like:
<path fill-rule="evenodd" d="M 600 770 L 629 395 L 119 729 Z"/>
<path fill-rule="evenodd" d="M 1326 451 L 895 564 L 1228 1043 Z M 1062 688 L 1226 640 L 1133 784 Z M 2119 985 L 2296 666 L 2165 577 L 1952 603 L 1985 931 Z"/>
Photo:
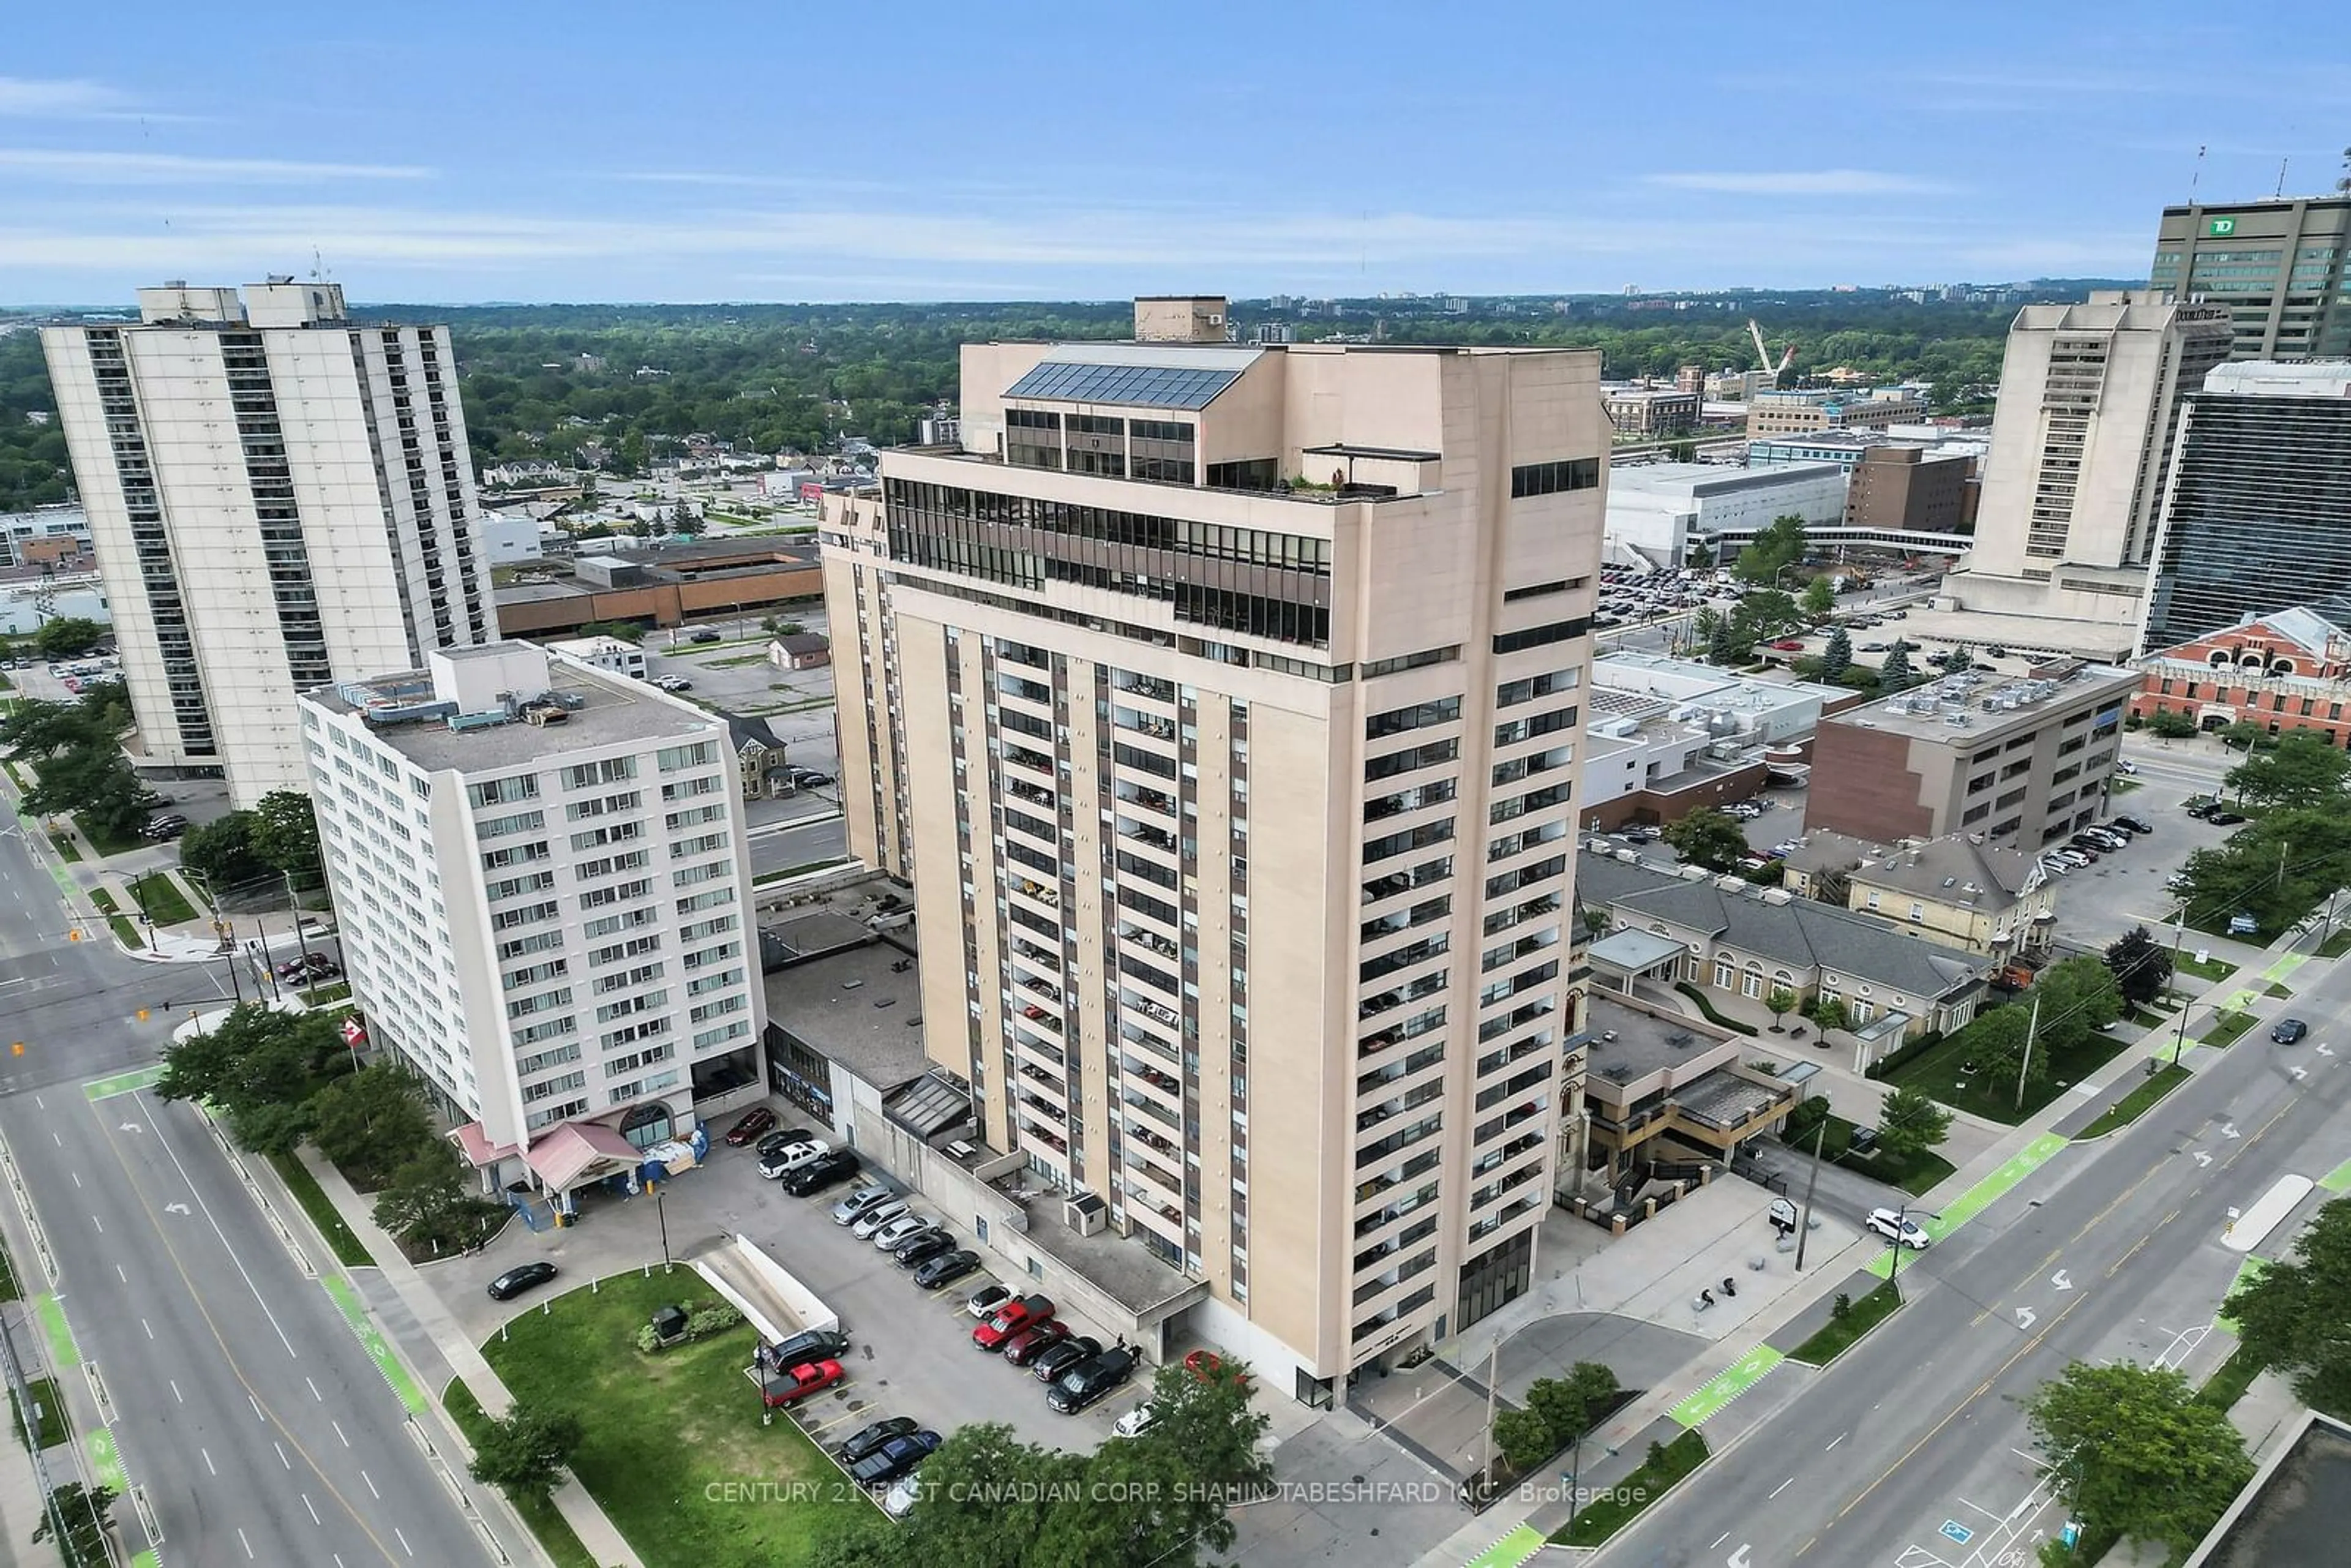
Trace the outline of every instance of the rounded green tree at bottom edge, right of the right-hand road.
<path fill-rule="evenodd" d="M 2175 1561 L 2252 1479 L 2229 1413 L 2201 1403 L 2170 1368 L 2074 1361 L 2024 1413 L 2076 1519 L 2161 1544 Z"/>

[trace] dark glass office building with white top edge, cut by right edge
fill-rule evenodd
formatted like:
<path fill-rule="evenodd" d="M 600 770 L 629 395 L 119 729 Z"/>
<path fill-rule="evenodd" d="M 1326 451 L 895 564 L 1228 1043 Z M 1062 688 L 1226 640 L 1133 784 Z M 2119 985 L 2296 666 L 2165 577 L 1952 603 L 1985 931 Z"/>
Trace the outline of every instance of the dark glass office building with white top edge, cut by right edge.
<path fill-rule="evenodd" d="M 2142 651 L 2351 595 L 2351 360 L 2222 364 L 2189 397 Z"/>

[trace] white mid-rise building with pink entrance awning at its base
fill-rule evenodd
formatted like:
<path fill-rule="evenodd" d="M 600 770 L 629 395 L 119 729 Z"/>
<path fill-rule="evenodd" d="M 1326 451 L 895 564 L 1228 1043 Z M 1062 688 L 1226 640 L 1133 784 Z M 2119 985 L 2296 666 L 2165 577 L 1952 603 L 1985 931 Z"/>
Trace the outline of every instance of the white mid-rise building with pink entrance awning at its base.
<path fill-rule="evenodd" d="M 299 712 L 353 999 L 470 1119 L 487 1180 L 569 1190 L 757 1093 L 724 719 L 529 642 L 442 649 Z"/>

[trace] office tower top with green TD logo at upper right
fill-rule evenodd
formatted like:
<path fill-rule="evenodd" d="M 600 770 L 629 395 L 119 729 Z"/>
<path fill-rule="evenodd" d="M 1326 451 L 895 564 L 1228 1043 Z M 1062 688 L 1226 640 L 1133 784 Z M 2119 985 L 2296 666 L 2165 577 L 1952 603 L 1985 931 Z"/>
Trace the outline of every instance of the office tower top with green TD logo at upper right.
<path fill-rule="evenodd" d="M 2226 306 L 2236 360 L 2351 355 L 2351 195 L 2165 207 L 2146 277 Z"/>

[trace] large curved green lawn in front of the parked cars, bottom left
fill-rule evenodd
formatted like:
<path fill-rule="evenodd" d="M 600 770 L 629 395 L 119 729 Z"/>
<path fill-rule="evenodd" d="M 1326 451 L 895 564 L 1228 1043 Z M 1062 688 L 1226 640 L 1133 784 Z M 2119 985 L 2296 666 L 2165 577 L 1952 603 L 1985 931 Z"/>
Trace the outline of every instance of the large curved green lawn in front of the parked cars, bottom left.
<path fill-rule="evenodd" d="M 571 1291 L 545 1314 L 524 1312 L 482 1354 L 517 1399 L 576 1410 L 588 1439 L 571 1472 L 595 1493 L 647 1568 L 769 1568 L 795 1563 L 828 1512 L 858 1500 L 792 1507 L 705 1502 L 712 1481 L 830 1479 L 832 1465 L 790 1420 L 759 1425 L 759 1399 L 743 1368 L 757 1335 L 731 1328 L 698 1345 L 637 1352 L 637 1326 L 654 1307 L 696 1307 L 708 1291 L 684 1279 L 607 1279 L 600 1293 Z M 818 1394 L 820 1410 L 839 1392 Z"/>

